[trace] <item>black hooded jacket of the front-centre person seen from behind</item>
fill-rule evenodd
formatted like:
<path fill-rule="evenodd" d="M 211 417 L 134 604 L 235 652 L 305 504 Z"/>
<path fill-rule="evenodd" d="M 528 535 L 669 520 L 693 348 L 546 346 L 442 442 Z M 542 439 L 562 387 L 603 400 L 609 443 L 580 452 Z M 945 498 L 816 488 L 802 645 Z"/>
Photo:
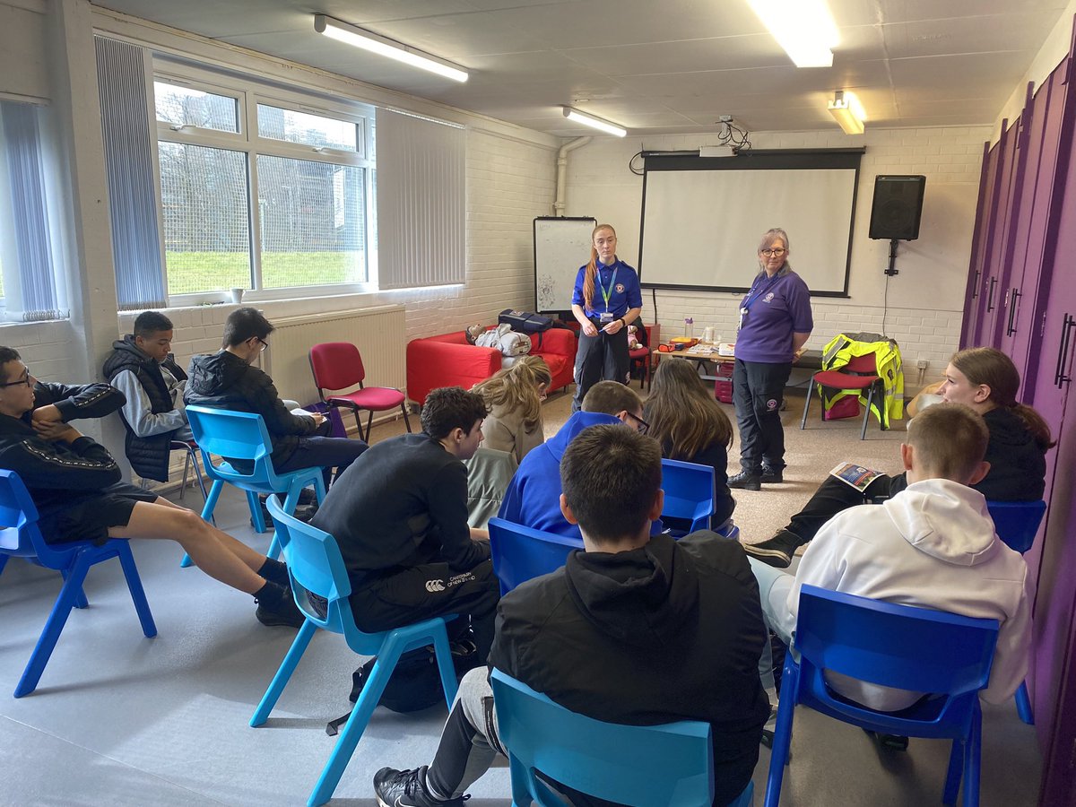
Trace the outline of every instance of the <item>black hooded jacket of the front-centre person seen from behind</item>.
<path fill-rule="evenodd" d="M 708 721 L 713 804 L 725 805 L 751 779 L 769 714 L 765 633 L 739 543 L 659 535 L 632 552 L 574 552 L 502 597 L 490 664 L 597 720 Z"/>

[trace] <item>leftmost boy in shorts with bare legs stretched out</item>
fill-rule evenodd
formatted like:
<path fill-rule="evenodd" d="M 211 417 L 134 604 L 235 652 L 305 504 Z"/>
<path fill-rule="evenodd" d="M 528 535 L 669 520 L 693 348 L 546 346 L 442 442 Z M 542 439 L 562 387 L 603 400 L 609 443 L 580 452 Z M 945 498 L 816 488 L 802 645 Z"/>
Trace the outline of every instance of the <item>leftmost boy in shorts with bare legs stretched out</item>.
<path fill-rule="evenodd" d="M 253 594 L 263 624 L 301 625 L 284 564 L 198 514 L 121 482 L 119 466 L 104 447 L 68 423 L 102 417 L 123 404 L 123 394 L 108 384 L 42 384 L 17 351 L 0 348 L 0 468 L 17 472 L 26 484 L 45 540 L 173 540 L 207 575 Z"/>

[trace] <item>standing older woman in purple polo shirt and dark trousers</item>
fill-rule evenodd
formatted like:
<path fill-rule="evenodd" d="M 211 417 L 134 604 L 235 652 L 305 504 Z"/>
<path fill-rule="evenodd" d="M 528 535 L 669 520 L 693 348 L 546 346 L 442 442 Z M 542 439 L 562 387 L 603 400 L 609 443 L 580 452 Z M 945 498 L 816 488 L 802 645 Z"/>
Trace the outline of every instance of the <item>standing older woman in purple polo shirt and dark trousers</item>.
<path fill-rule="evenodd" d="M 759 243 L 759 274 L 740 302 L 733 396 L 741 470 L 728 478 L 730 487 L 758 491 L 783 478 L 781 398 L 815 327 L 810 292 L 788 258 L 788 233 L 768 230 Z"/>

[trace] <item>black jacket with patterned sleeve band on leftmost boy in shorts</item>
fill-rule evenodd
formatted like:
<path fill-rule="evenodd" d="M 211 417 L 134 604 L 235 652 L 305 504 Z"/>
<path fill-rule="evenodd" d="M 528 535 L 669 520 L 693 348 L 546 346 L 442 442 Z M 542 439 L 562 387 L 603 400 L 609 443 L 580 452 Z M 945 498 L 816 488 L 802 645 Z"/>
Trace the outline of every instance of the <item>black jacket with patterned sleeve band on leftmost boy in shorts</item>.
<path fill-rule="evenodd" d="M 36 406 L 55 404 L 65 422 L 104 417 L 125 400 L 109 384 L 39 382 L 33 394 Z M 89 437 L 70 444 L 44 440 L 30 425 L 29 412 L 22 417 L 0 414 L 0 468 L 18 473 L 42 514 L 62 507 L 74 492 L 98 491 L 121 479 L 119 466 L 103 445 Z"/>

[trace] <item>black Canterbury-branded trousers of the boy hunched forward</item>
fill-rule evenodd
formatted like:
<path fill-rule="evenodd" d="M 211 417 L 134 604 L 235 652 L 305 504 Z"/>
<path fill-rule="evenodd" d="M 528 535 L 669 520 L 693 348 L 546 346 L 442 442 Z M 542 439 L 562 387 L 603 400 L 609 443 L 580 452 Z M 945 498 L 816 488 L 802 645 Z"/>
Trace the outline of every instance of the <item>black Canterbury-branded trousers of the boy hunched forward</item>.
<path fill-rule="evenodd" d="M 354 585 L 351 610 L 360 631 L 377 633 L 413 622 L 458 613 L 470 618 L 478 657 L 485 664 L 493 646 L 493 623 L 500 586 L 493 561 L 470 571 L 453 571 L 447 563 L 428 563 L 368 576 Z M 456 626 L 449 623 L 449 635 Z"/>

